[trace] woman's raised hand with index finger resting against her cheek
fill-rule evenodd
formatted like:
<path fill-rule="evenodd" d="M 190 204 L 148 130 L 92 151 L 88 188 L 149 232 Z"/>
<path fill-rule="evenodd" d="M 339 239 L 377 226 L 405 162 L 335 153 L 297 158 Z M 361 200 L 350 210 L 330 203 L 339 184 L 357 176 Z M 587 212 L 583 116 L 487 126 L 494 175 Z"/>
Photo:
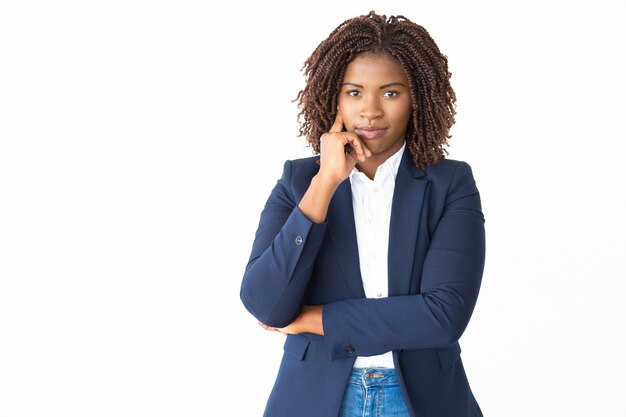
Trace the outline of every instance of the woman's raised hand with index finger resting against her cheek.
<path fill-rule="evenodd" d="M 332 183 L 339 184 L 352 172 L 356 164 L 365 162 L 372 156 L 369 149 L 354 132 L 342 132 L 343 119 L 337 111 L 335 123 L 330 132 L 320 138 L 320 171 L 319 176 Z M 346 145 L 350 152 L 346 153 Z"/>

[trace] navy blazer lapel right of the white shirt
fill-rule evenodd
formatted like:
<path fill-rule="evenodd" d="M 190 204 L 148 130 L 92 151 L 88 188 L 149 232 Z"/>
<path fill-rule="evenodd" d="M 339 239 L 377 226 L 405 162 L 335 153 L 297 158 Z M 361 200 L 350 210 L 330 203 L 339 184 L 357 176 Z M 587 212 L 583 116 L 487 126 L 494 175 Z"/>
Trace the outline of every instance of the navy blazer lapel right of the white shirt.
<path fill-rule="evenodd" d="M 389 226 L 389 296 L 407 295 L 413 272 L 415 245 L 428 181 L 405 149 L 393 192 Z"/>

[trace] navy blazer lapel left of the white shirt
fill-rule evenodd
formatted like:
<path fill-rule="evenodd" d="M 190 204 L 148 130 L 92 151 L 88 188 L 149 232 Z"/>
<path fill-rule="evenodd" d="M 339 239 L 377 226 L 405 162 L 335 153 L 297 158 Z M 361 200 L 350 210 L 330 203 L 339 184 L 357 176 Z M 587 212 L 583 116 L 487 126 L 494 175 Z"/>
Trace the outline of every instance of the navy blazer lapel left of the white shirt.
<path fill-rule="evenodd" d="M 328 207 L 327 219 L 328 231 L 343 271 L 343 278 L 355 297 L 365 297 L 354 226 L 350 179 L 343 181 L 335 191 Z"/>

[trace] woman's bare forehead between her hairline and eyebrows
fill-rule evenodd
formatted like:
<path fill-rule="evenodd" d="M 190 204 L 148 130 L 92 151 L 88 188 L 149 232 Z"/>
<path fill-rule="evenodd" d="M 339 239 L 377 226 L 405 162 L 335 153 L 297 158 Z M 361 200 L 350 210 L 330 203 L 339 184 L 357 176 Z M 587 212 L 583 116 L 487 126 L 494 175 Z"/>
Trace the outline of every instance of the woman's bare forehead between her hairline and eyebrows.
<path fill-rule="evenodd" d="M 344 82 L 402 82 L 407 84 L 406 74 L 395 58 L 388 55 L 363 54 L 357 56 L 346 67 Z"/>

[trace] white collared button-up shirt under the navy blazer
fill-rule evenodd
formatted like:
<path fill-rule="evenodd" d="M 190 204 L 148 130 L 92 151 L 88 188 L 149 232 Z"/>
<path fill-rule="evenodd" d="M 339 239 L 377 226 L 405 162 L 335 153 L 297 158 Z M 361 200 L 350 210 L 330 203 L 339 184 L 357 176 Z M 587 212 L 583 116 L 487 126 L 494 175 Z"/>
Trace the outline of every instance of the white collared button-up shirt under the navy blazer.
<path fill-rule="evenodd" d="M 352 208 L 359 248 L 363 289 L 367 298 L 388 296 L 389 225 L 396 175 L 402 160 L 402 148 L 382 163 L 370 180 L 354 168 L 350 174 Z M 358 356 L 355 368 L 394 368 L 391 352 L 375 356 Z"/>

